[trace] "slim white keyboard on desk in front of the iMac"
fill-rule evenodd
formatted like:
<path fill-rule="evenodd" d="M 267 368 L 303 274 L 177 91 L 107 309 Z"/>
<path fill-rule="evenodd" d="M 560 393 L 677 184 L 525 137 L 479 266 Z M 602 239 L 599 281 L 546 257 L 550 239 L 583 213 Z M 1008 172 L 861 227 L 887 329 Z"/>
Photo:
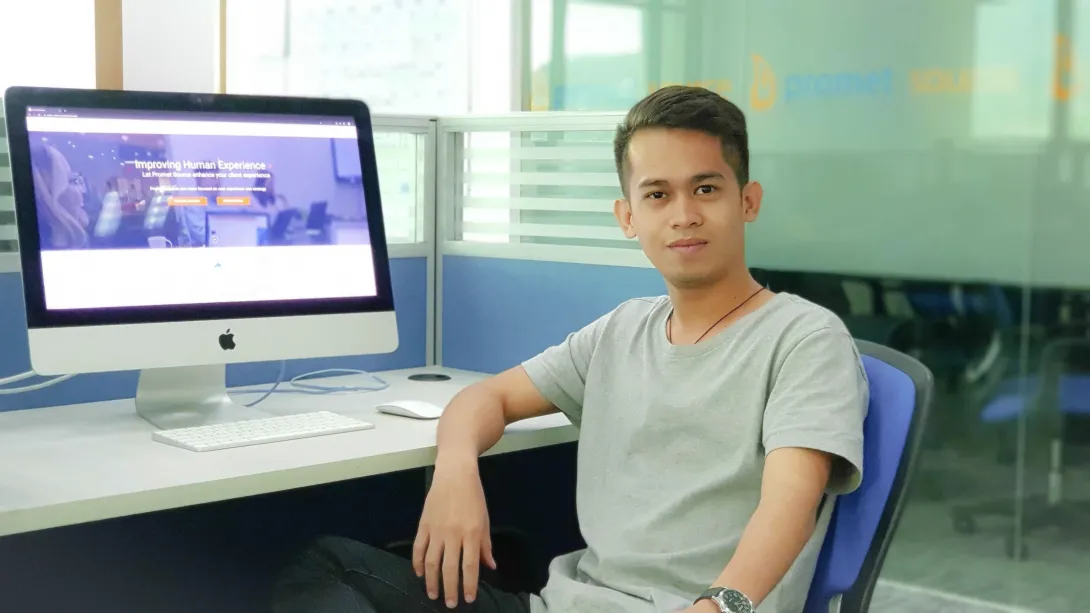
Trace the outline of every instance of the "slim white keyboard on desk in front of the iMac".
<path fill-rule="evenodd" d="M 375 424 L 331 413 L 316 411 L 295 416 L 269 417 L 214 423 L 195 428 L 161 430 L 152 433 L 152 440 L 191 452 L 214 452 L 262 443 L 293 441 L 325 434 L 371 430 Z"/>

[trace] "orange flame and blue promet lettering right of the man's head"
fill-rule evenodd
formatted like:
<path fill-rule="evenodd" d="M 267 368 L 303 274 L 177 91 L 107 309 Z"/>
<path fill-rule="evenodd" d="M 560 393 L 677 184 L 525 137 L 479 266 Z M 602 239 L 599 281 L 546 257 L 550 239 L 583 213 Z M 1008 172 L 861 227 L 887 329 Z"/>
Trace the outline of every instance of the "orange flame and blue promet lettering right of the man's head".
<path fill-rule="evenodd" d="M 780 82 L 772 64 L 753 53 L 750 108 L 766 111 L 779 101 L 791 104 L 813 99 L 864 98 L 893 95 L 893 69 L 792 73 Z M 780 87 L 783 85 L 783 87 Z M 780 92 L 783 89 L 783 92 Z"/>

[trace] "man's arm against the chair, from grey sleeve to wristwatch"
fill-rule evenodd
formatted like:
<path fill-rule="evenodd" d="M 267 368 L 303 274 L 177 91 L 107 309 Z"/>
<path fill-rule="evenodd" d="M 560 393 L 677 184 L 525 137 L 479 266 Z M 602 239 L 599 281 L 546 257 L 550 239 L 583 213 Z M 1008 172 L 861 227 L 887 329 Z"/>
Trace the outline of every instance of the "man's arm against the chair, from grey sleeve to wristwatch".
<path fill-rule="evenodd" d="M 765 408 L 761 501 L 734 556 L 713 584 L 759 605 L 813 536 L 822 498 L 862 479 L 868 386 L 843 327 L 811 333 L 785 358 Z M 701 601 L 693 613 L 718 613 Z"/>

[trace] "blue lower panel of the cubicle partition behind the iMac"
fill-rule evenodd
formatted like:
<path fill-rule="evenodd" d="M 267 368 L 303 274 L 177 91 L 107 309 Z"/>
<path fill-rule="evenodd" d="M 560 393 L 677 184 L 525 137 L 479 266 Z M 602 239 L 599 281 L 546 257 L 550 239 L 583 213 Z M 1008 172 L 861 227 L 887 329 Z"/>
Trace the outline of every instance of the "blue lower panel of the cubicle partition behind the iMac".
<path fill-rule="evenodd" d="M 390 268 L 400 336 L 398 350 L 385 356 L 300 360 L 289 363 L 289 376 L 330 368 L 380 371 L 426 363 L 427 260 L 391 260 Z M 17 274 L 0 274 L 0 378 L 26 370 L 29 359 L 21 281 Z M 233 364 L 228 369 L 228 384 L 270 383 L 278 372 L 279 363 Z M 0 396 L 0 411 L 132 398 L 135 392 L 135 372 L 84 375 L 39 392 Z"/>

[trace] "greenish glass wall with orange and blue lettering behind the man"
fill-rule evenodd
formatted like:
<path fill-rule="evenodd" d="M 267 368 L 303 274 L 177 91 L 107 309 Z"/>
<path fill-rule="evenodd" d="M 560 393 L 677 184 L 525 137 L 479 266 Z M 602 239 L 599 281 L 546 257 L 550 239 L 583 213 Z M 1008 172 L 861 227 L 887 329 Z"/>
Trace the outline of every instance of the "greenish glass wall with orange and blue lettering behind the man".
<path fill-rule="evenodd" d="M 751 264 L 934 371 L 874 610 L 1086 611 L 1090 0 L 530 8 L 529 108 L 622 111 L 670 83 L 735 100 L 766 192 Z"/>

